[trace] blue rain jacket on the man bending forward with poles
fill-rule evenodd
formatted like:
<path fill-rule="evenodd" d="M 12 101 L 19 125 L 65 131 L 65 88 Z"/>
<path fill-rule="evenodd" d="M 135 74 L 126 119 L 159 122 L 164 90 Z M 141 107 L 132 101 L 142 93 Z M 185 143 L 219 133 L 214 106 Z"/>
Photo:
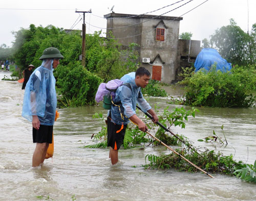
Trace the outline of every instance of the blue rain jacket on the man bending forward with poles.
<path fill-rule="evenodd" d="M 136 114 L 136 104 L 138 103 L 139 107 L 142 109 L 142 111 L 147 111 L 148 109 L 151 109 L 150 104 L 146 102 L 146 100 L 143 98 L 140 87 L 138 87 L 135 83 L 135 80 L 131 80 L 130 82 L 132 91 L 128 86 L 122 85 L 117 88 L 116 91 L 116 97 L 114 99 L 114 102 L 120 102 L 120 109 L 121 113 L 124 114 L 126 117 L 130 118 L 133 115 Z M 141 94 L 141 98 L 138 98 L 139 93 Z M 116 124 L 127 124 L 129 123 L 129 119 L 124 117 L 124 119 L 121 119 L 120 111 L 117 106 L 111 106 L 111 119 L 113 123 Z"/>

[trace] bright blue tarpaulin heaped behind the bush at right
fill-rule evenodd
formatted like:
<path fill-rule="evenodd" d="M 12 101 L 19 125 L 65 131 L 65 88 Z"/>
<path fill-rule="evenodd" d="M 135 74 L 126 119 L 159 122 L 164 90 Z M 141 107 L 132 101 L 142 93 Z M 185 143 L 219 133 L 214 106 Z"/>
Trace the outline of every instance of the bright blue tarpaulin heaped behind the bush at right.
<path fill-rule="evenodd" d="M 195 62 L 195 72 L 205 69 L 209 71 L 210 66 L 216 63 L 216 70 L 227 72 L 231 70 L 231 63 L 228 63 L 226 59 L 223 59 L 221 55 L 215 49 L 204 48 L 197 55 Z"/>

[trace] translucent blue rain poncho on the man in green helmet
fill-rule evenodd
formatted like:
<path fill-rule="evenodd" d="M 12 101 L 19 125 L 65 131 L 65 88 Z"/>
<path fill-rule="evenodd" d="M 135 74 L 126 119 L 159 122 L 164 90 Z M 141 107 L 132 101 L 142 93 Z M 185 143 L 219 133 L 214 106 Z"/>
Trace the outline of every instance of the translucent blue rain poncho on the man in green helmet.
<path fill-rule="evenodd" d="M 53 59 L 44 59 L 26 84 L 22 116 L 32 122 L 36 115 L 42 125 L 53 125 L 57 106 Z"/>

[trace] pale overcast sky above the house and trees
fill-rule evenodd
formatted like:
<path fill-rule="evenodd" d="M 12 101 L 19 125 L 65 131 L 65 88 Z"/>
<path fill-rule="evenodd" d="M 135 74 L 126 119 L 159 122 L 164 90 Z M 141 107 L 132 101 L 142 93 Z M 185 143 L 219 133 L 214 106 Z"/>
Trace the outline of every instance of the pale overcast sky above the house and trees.
<path fill-rule="evenodd" d="M 88 11 L 92 9 L 91 14 L 86 14 L 87 33 L 93 33 L 102 29 L 106 30 L 106 19 L 103 15 L 110 13 L 110 9 L 114 6 L 115 13 L 125 14 L 143 14 L 160 9 L 181 0 L 7 0 L 1 1 L 0 4 L 0 45 L 5 43 L 12 46 L 14 37 L 12 31 L 18 31 L 20 28 L 29 28 L 30 24 L 35 26 L 54 25 L 55 27 L 70 29 L 81 29 L 82 20 L 75 13 L 75 10 Z M 168 6 L 156 12 L 148 13 L 152 15 L 161 15 L 165 12 L 173 10 L 182 4 L 191 0 L 183 0 L 173 6 Z M 229 19 L 233 18 L 238 26 L 245 32 L 249 25 L 251 30 L 252 24 L 256 23 L 256 0 L 193 0 L 186 5 L 168 12 L 166 16 L 182 16 L 180 21 L 180 33 L 191 32 L 192 39 L 202 40 L 209 39 L 209 36 L 216 29 L 229 25 Z M 202 4 L 205 2 L 204 4 Z M 197 7 L 198 5 L 201 6 Z M 249 5 L 249 7 L 247 6 Z M 195 8 L 197 7 L 197 8 Z M 189 10 L 194 10 L 188 12 Z M 45 10 L 44 10 L 45 9 Z M 55 9 L 55 10 L 47 10 Z M 184 14 L 188 12 L 187 14 Z M 184 15 L 183 15 L 184 14 Z M 248 17 L 249 14 L 249 17 Z M 82 14 L 80 14 L 82 17 Z M 78 21 L 76 21 L 78 18 Z M 248 24 L 249 19 L 249 24 Z M 76 22 L 76 23 L 75 23 Z M 77 24 L 78 22 L 78 24 Z M 91 25 L 89 25 L 91 24 Z M 94 27 L 95 26 L 95 27 Z M 96 28 L 99 27 L 99 28 Z"/>

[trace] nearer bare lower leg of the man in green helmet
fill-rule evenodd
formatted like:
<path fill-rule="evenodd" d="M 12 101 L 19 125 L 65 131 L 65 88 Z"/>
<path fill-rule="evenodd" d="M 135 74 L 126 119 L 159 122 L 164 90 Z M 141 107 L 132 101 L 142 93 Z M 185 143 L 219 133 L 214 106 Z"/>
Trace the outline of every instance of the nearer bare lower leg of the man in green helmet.
<path fill-rule="evenodd" d="M 44 162 L 49 143 L 36 143 L 32 159 L 32 167 L 37 167 Z"/>

